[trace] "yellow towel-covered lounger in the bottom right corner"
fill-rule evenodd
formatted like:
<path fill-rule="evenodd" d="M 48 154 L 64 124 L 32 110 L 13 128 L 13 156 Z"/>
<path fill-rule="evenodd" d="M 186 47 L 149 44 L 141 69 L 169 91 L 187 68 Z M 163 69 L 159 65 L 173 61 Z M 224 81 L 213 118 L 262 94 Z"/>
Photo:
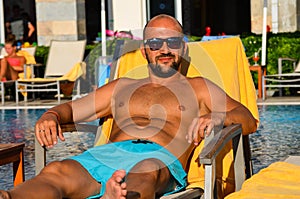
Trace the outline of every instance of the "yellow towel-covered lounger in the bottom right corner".
<path fill-rule="evenodd" d="M 272 163 L 246 180 L 240 191 L 228 195 L 226 199 L 299 199 L 299 173 L 299 164 L 286 161 Z"/>

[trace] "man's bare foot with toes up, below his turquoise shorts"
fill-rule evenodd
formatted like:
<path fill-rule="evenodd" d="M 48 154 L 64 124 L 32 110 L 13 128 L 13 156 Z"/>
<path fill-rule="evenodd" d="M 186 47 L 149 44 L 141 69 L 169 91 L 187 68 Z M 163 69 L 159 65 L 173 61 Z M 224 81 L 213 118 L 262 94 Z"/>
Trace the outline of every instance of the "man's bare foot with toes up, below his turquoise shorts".
<path fill-rule="evenodd" d="M 124 170 L 116 171 L 107 181 L 105 194 L 101 199 L 126 199 L 126 183 L 122 183 L 125 175 Z"/>

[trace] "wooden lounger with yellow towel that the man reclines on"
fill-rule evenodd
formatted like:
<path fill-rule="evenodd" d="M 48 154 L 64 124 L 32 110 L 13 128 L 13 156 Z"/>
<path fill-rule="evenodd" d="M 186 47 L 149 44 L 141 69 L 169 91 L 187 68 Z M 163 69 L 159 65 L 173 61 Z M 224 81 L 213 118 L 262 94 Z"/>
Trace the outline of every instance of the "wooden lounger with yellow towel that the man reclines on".
<path fill-rule="evenodd" d="M 136 78 L 147 76 L 147 62 L 138 50 L 139 42 L 134 41 L 132 43 L 128 44 L 129 47 L 123 47 L 119 51 L 121 53 L 115 52 L 117 60 L 111 68 L 110 79 L 124 76 Z M 231 97 L 248 107 L 258 121 L 255 88 L 240 39 L 233 37 L 209 42 L 192 42 L 188 44 L 188 47 L 189 56 L 186 57 L 187 62 L 182 73 L 189 77 L 205 76 L 215 82 Z M 95 144 L 99 145 L 106 143 L 109 139 L 112 122 L 110 119 L 105 120 L 101 128 L 87 124 L 76 124 L 75 126 L 74 124 L 66 124 L 63 125 L 63 129 L 65 132 L 74 130 L 95 132 L 97 129 Z M 215 135 L 212 134 L 212 136 L 211 141 L 206 139 L 205 142 L 202 142 L 195 150 L 193 157 L 191 157 L 188 172 L 189 188 L 200 189 L 190 189 L 186 192 L 192 195 L 196 194 L 198 198 L 203 189 L 205 198 L 212 198 L 216 193 L 215 190 L 218 190 L 217 194 L 223 197 L 228 193 L 239 190 L 242 182 L 252 175 L 249 139 L 248 136 L 243 136 L 243 139 L 241 139 L 240 125 L 229 126 L 216 132 Z M 243 158 L 244 153 L 241 151 L 243 146 L 247 148 L 246 160 Z M 39 173 L 45 165 L 46 152 L 37 141 L 35 153 L 36 173 Z M 226 164 L 222 164 L 222 162 L 226 162 Z M 247 168 L 246 173 L 245 168 Z M 205 177 L 204 173 L 206 173 Z M 222 180 L 220 182 L 216 179 L 217 177 L 218 179 L 224 177 L 225 181 L 232 180 L 233 184 Z M 183 198 L 194 198 L 194 195 L 185 195 Z"/>

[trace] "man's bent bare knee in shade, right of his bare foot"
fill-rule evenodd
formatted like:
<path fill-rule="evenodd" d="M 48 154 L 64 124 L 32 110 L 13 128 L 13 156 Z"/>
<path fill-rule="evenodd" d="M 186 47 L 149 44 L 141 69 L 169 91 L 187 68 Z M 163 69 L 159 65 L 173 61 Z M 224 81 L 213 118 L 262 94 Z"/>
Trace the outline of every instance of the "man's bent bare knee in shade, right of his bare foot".
<path fill-rule="evenodd" d="M 127 175 L 126 184 L 129 199 L 154 199 L 175 187 L 169 169 L 157 159 L 136 164 Z"/>

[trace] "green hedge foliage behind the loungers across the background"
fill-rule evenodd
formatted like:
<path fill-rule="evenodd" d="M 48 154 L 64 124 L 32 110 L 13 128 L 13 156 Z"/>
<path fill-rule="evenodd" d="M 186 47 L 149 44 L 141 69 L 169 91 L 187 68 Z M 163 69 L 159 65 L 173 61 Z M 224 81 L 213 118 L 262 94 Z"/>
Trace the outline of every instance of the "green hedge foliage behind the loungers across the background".
<path fill-rule="evenodd" d="M 250 64 L 254 64 L 252 56 L 254 52 L 259 52 L 261 57 L 262 36 L 259 34 L 247 33 L 240 35 L 242 43 L 245 47 L 246 56 Z M 188 36 L 190 41 L 199 41 L 201 37 Z M 107 55 L 112 55 L 115 49 L 116 39 L 107 41 Z M 49 47 L 38 46 L 36 50 L 36 59 L 38 63 L 46 63 Z M 89 70 L 93 72 L 96 59 L 102 55 L 101 43 L 87 45 L 85 53 L 85 61 Z M 268 33 L 267 35 L 267 57 L 266 67 L 267 74 L 276 74 L 279 57 L 289 57 L 300 60 L 300 32 L 294 33 Z M 260 62 L 260 61 L 259 61 Z M 283 72 L 292 72 L 291 63 L 283 63 Z M 253 79 L 257 85 L 257 73 L 253 72 Z"/>

